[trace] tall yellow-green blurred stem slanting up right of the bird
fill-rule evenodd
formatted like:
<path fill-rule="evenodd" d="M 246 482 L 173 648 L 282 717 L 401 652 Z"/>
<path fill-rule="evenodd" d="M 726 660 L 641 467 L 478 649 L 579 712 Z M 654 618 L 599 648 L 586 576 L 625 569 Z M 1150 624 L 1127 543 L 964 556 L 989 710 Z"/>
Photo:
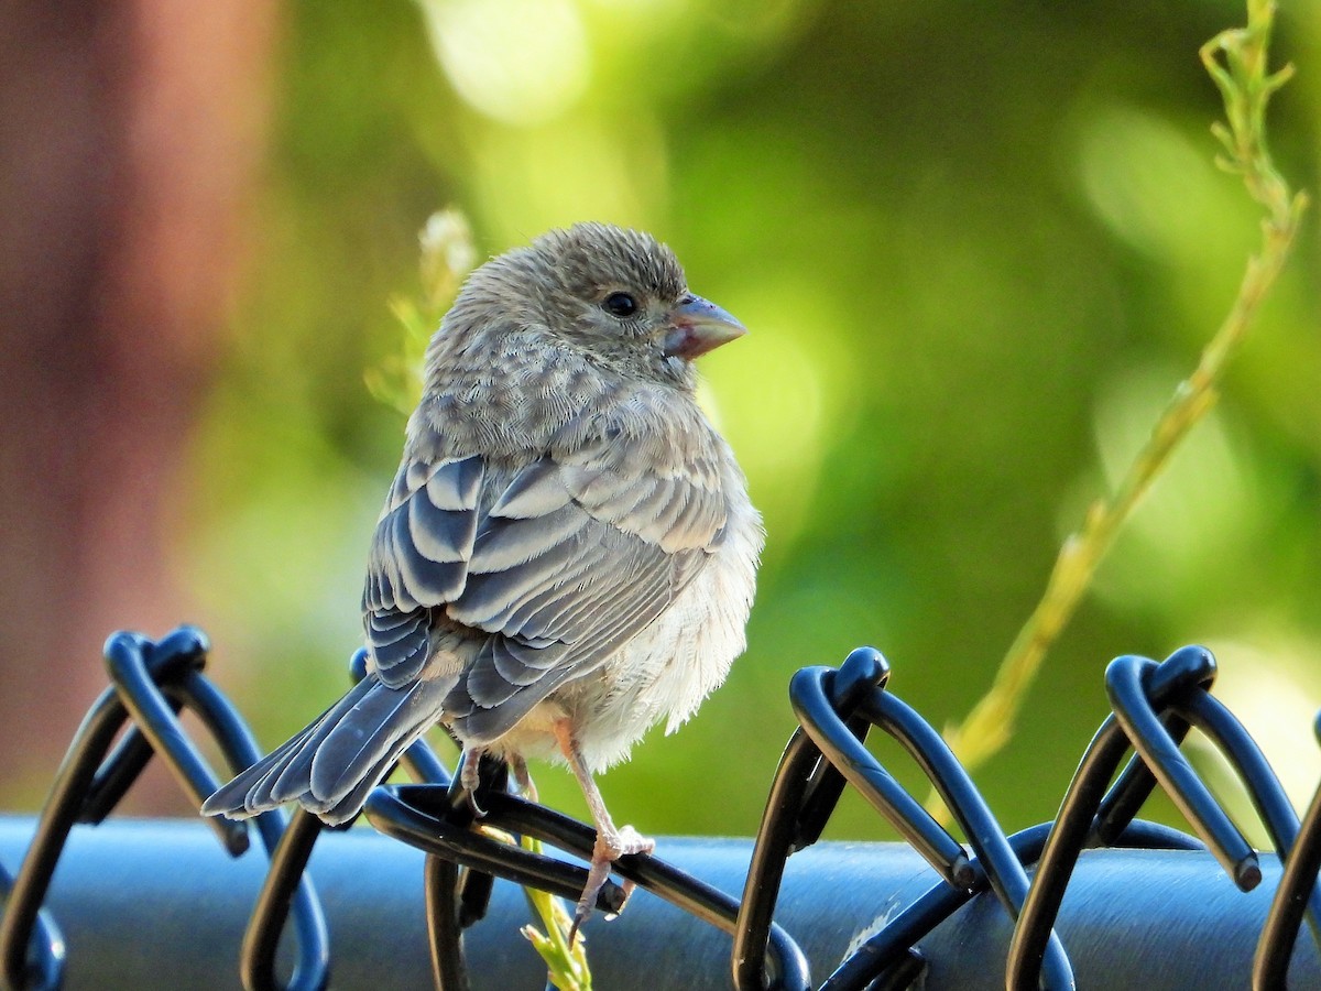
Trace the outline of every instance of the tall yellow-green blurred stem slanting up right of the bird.
<path fill-rule="evenodd" d="M 991 690 L 962 725 L 946 731 L 955 754 L 970 769 L 984 764 L 1008 743 L 1046 651 L 1073 618 L 1096 567 L 1133 507 L 1166 468 L 1180 441 L 1215 404 L 1225 369 L 1288 259 L 1306 197 L 1292 193 L 1275 169 L 1266 144 L 1266 107 L 1293 69 L 1267 71 L 1275 4 L 1248 0 L 1247 8 L 1247 26 L 1217 34 L 1202 46 L 1201 57 L 1225 98 L 1227 123 L 1211 127 L 1225 147 L 1218 164 L 1242 176 L 1248 194 L 1266 209 L 1260 251 L 1248 258 L 1234 305 L 1202 351 L 1197 369 L 1174 390 L 1115 493 L 1108 501 L 1092 503 L 1082 527 L 1065 539 L 1046 591 L 1000 663 Z M 927 805 L 939 807 L 939 799 L 933 794 Z"/>

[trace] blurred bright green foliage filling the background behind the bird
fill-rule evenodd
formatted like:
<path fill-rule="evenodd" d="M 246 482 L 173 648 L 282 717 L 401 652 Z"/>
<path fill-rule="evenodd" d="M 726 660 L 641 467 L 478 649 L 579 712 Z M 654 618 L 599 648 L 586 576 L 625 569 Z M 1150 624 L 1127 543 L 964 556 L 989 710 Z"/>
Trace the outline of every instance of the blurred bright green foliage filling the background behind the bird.
<path fill-rule="evenodd" d="M 178 618 L 266 745 L 320 712 L 402 444 L 363 371 L 399 348 L 388 301 L 421 292 L 427 217 L 464 210 L 480 259 L 577 219 L 647 229 L 752 330 L 701 369 L 769 531 L 746 655 L 602 781 L 653 834 L 756 830 L 803 665 L 875 645 L 894 692 L 962 719 L 1258 243 L 1197 58 L 1238 3 L 343 0 L 275 21 L 243 276 L 162 509 Z M 1321 5 L 1284 3 L 1275 52 L 1299 75 L 1273 149 L 1314 190 Z M 1186 642 L 1295 799 L 1314 789 L 1318 217 L 979 772 L 1007 826 L 1054 814 L 1106 662 Z M 534 774 L 581 814 L 568 774 Z M 828 835 L 889 832 L 847 799 Z"/>

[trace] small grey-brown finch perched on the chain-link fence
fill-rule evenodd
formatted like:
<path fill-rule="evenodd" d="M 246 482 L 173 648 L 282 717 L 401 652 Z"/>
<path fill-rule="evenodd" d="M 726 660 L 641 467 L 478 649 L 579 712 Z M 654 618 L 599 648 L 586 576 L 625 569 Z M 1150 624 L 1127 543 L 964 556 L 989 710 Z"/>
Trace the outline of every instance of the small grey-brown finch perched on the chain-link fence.
<path fill-rule="evenodd" d="M 527 758 L 563 762 L 597 834 L 576 933 L 614 860 L 654 850 L 594 776 L 746 647 L 765 530 L 694 367 L 746 333 L 643 231 L 577 223 L 476 268 L 371 538 L 366 677 L 202 813 L 347 823 L 437 723 L 474 809 L 482 754 L 524 788 Z"/>

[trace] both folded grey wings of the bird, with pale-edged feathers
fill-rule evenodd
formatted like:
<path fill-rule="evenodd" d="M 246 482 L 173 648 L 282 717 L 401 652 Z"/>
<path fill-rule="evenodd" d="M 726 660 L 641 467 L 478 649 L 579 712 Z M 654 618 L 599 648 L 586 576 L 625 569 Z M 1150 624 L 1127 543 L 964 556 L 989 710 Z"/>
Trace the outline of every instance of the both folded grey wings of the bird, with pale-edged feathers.
<path fill-rule="evenodd" d="M 660 616 L 725 523 L 713 455 L 646 457 L 613 433 L 531 462 L 485 511 L 482 480 L 502 473 L 476 457 L 428 470 L 413 469 L 424 485 L 400 470 L 399 503 L 378 525 L 369 642 L 382 680 L 402 684 L 425 663 L 428 606 L 493 634 L 444 706 L 474 743 L 501 736 Z"/>

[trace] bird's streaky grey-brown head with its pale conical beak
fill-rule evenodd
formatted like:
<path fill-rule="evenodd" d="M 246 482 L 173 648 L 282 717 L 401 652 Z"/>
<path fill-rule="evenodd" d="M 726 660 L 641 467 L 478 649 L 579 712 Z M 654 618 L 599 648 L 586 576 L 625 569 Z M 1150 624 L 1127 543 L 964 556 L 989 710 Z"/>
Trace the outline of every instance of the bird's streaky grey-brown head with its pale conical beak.
<path fill-rule="evenodd" d="M 560 341 L 629 377 L 691 388 L 694 358 L 748 333 L 690 292 L 674 252 L 642 231 L 579 223 L 483 268 Z"/>

